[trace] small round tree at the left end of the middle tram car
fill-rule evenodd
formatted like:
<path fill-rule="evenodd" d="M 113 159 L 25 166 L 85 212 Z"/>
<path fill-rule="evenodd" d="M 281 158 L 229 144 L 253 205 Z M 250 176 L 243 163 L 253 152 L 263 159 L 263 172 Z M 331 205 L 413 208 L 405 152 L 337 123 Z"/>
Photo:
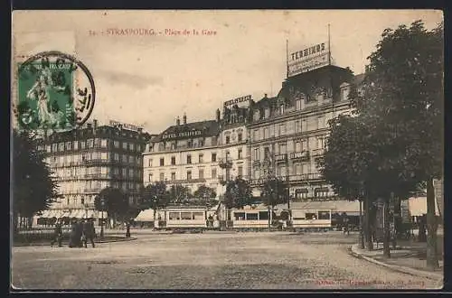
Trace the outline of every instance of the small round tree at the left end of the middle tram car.
<path fill-rule="evenodd" d="M 252 199 L 252 191 L 247 181 L 237 177 L 226 184 L 223 204 L 228 210 L 232 208 L 243 209 L 243 207 L 252 204 Z"/>

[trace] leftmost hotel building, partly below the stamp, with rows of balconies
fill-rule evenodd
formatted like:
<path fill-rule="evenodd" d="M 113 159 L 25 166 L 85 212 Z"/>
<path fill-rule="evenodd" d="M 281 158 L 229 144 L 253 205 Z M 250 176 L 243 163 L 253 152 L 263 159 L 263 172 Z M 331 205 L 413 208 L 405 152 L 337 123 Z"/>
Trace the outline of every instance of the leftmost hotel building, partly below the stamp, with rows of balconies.
<path fill-rule="evenodd" d="M 130 206 L 136 207 L 143 182 L 142 152 L 150 136 L 137 126 L 113 121 L 98 126 L 93 120 L 80 129 L 42 138 L 39 149 L 54 173 L 61 199 L 37 215 L 36 223 L 52 218 L 100 219 L 94 200 L 106 187 L 122 189 Z"/>

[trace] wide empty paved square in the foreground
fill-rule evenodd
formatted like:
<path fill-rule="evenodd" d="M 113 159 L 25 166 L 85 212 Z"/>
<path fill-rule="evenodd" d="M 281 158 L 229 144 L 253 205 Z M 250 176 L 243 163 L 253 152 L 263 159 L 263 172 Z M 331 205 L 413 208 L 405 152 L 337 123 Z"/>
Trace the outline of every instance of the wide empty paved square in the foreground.
<path fill-rule="evenodd" d="M 356 235 L 138 233 L 96 248 L 14 247 L 22 289 L 439 289 L 348 254 Z"/>

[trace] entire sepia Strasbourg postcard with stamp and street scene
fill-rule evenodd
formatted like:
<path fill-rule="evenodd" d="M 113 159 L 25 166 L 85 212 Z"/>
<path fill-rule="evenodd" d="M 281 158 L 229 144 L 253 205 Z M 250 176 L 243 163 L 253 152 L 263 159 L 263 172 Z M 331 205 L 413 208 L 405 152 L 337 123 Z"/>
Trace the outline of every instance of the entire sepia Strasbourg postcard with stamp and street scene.
<path fill-rule="evenodd" d="M 443 287 L 441 11 L 12 22 L 12 290 Z"/>

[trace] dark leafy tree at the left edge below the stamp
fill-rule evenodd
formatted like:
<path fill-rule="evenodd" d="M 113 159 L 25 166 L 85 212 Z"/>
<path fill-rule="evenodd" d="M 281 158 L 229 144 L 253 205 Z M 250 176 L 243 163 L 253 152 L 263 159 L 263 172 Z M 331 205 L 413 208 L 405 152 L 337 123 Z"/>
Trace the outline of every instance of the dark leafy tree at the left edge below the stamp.
<path fill-rule="evenodd" d="M 18 217 L 28 219 L 31 228 L 36 212 L 49 209 L 59 198 L 58 185 L 52 179 L 44 155 L 38 150 L 38 139 L 29 131 L 13 131 L 13 217 L 14 231 Z"/>

